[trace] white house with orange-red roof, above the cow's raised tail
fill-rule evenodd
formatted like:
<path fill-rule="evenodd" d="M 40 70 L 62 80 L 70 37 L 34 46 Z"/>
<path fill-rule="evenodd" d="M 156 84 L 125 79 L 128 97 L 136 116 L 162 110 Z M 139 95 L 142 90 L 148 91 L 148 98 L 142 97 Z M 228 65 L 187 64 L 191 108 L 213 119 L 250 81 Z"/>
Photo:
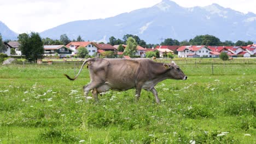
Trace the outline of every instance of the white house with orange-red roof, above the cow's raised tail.
<path fill-rule="evenodd" d="M 85 47 L 90 56 L 95 55 L 95 52 L 98 50 L 96 43 L 91 41 L 70 42 L 66 47 L 73 50 L 72 55 L 77 54 L 79 47 Z"/>

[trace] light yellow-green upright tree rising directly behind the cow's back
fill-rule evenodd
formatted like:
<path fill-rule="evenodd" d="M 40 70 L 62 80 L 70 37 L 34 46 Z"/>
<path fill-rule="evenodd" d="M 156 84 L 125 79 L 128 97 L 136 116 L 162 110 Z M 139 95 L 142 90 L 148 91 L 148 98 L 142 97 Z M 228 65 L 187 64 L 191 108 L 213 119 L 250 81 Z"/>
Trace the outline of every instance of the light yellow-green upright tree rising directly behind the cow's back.
<path fill-rule="evenodd" d="M 137 52 L 137 43 L 134 38 L 129 37 L 127 39 L 127 46 L 124 50 L 124 55 L 133 56 Z"/>

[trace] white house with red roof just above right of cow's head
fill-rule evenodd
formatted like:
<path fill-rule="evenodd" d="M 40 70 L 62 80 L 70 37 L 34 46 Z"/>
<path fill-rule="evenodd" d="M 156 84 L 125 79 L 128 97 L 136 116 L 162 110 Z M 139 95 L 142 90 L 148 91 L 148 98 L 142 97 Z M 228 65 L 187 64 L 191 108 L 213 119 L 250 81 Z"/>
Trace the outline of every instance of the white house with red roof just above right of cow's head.
<path fill-rule="evenodd" d="M 177 49 L 178 57 L 210 57 L 210 51 L 205 45 L 181 46 Z"/>

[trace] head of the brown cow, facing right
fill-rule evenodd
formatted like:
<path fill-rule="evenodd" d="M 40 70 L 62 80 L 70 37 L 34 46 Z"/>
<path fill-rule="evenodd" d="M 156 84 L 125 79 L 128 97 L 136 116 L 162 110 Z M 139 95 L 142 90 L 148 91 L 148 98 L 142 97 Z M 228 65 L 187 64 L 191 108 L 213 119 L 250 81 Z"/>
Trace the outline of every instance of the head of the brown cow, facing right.
<path fill-rule="evenodd" d="M 170 79 L 187 80 L 188 77 L 173 61 L 170 64 L 164 64 L 164 67 L 168 69 L 167 75 L 170 77 Z"/>

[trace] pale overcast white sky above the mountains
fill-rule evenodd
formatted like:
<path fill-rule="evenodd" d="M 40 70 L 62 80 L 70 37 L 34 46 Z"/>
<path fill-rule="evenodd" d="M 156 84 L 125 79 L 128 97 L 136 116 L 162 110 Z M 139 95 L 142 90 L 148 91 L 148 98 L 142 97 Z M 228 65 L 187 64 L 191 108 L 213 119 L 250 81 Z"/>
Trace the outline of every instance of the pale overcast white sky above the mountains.
<path fill-rule="evenodd" d="M 242 13 L 256 14 L 255 0 L 172 0 L 181 7 L 217 3 Z M 42 32 L 76 20 L 112 17 L 161 0 L 0 0 L 0 21 L 16 33 Z"/>

